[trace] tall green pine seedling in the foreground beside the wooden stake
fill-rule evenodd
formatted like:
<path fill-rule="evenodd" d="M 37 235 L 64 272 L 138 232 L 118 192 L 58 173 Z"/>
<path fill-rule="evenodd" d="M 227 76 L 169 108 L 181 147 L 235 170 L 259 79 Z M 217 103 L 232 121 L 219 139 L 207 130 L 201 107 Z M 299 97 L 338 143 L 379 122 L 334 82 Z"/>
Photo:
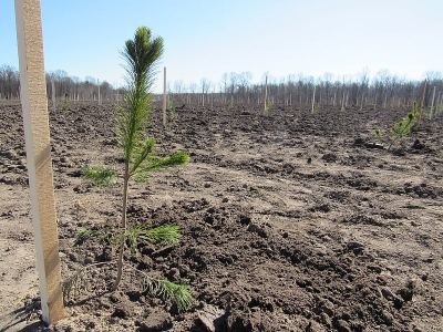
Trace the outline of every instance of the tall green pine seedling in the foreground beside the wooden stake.
<path fill-rule="evenodd" d="M 126 248 L 136 252 L 137 242 L 147 240 L 157 242 L 178 242 L 179 228 L 174 225 L 164 225 L 159 228 L 148 229 L 147 225 L 138 225 L 127 228 L 127 197 L 130 180 L 146 181 L 151 173 L 165 168 L 183 166 L 189 162 L 185 152 L 177 152 L 169 156 L 158 156 L 155 151 L 155 139 L 147 137 L 144 132 L 147 127 L 150 114 L 153 112 L 153 97 L 151 89 L 154 82 L 155 68 L 163 54 L 163 39 L 155 39 L 151 30 L 141 27 L 136 30 L 134 39 L 125 42 L 121 52 L 125 60 L 127 91 L 122 105 L 116 105 L 116 129 L 119 146 L 124 160 L 122 220 L 120 229 L 112 242 L 119 246 L 119 258 L 116 262 L 117 277 L 112 290 L 116 290 L 123 273 L 123 257 Z M 93 183 L 112 184 L 115 173 L 104 168 L 84 167 L 85 177 Z M 173 291 L 164 288 L 166 291 Z M 176 299 L 173 293 L 168 294 L 172 300 Z M 190 294 L 189 294 L 190 297 Z M 177 303 L 181 305 L 179 303 Z"/>

